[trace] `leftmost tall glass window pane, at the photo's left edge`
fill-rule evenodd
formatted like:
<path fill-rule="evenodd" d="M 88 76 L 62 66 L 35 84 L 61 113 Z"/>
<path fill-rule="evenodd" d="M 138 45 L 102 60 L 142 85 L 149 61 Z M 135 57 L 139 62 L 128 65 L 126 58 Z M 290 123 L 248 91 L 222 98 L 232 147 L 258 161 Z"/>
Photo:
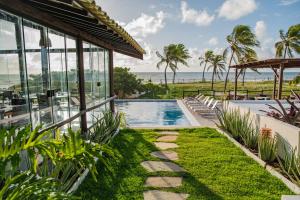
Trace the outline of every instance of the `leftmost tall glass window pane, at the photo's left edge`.
<path fill-rule="evenodd" d="M 0 127 L 30 123 L 21 23 L 0 10 Z"/>

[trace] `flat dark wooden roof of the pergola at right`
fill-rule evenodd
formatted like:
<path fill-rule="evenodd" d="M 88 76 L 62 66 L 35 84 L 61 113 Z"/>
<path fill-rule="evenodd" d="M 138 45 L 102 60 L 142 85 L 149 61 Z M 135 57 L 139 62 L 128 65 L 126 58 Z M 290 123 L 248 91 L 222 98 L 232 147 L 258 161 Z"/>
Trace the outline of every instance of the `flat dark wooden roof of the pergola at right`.
<path fill-rule="evenodd" d="M 271 69 L 279 69 L 283 68 L 300 68 L 300 59 L 299 58 L 289 58 L 289 59 L 267 59 L 261 61 L 255 61 L 250 63 L 238 64 L 230 66 L 230 68 L 234 69 L 260 69 L 260 68 L 271 68 Z"/>

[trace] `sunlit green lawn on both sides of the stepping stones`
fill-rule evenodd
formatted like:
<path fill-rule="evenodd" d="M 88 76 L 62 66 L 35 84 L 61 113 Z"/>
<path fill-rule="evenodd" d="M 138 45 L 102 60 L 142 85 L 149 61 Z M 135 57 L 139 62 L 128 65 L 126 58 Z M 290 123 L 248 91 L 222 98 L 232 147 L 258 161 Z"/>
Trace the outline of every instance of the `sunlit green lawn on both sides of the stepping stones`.
<path fill-rule="evenodd" d="M 188 173 L 147 173 L 140 165 L 157 160 L 150 153 L 151 142 L 159 137 L 151 130 L 122 130 L 114 140 L 119 158 L 111 172 L 98 165 L 98 182 L 89 175 L 77 195 L 84 199 L 143 199 L 143 184 L 148 176 L 184 177 L 183 186 L 168 191 L 190 194 L 189 199 L 280 199 L 291 194 L 277 178 L 247 157 L 214 129 L 180 130 L 177 163 Z"/>

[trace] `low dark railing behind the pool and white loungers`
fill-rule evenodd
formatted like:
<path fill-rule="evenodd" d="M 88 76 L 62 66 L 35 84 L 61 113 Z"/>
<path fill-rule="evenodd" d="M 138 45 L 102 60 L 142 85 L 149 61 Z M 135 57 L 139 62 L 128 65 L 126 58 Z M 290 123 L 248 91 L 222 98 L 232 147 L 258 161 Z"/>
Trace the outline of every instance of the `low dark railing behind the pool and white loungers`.
<path fill-rule="evenodd" d="M 300 89 L 299 90 L 293 90 L 293 91 L 300 92 Z M 269 90 L 265 90 L 265 89 L 261 89 L 261 90 L 237 90 L 237 92 L 238 93 L 243 93 L 242 95 L 238 94 L 238 96 L 245 96 L 246 99 L 249 99 L 250 96 L 257 96 L 257 95 L 272 96 L 273 95 L 273 90 L 271 90 L 271 89 L 269 89 Z M 217 96 L 223 96 L 224 95 L 224 90 L 205 90 L 205 89 L 183 90 L 182 91 L 182 98 L 185 98 L 186 96 L 192 96 L 192 95 L 195 95 L 195 94 L 200 94 L 200 93 L 203 93 L 205 95 L 209 95 L 209 96 L 212 96 L 212 97 L 215 98 Z M 290 90 L 282 91 L 282 94 L 289 95 L 290 93 L 291 93 Z M 217 94 L 221 94 L 221 95 L 217 95 Z M 228 96 L 230 98 L 231 96 L 234 95 L 234 90 L 227 90 L 225 92 L 225 94 L 228 94 Z M 275 95 L 277 95 L 277 91 L 275 92 Z"/>

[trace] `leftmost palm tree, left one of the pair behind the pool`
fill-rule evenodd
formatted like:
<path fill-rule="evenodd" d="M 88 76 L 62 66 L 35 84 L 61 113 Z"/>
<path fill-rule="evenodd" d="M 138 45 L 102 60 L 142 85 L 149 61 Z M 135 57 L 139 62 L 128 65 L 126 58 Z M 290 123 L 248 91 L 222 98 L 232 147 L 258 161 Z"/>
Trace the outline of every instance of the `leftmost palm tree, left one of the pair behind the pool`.
<path fill-rule="evenodd" d="M 164 47 L 164 52 L 163 55 L 160 54 L 158 51 L 156 51 L 156 55 L 157 57 L 160 58 L 160 61 L 157 63 L 157 68 L 159 69 L 161 67 L 161 65 L 165 64 L 165 88 L 168 89 L 168 81 L 167 81 L 167 69 L 168 67 L 170 67 L 173 71 L 173 69 L 176 68 L 176 65 L 172 62 L 172 52 L 174 52 L 174 50 L 176 49 L 176 45 L 175 44 L 170 44 L 168 46 Z"/>

